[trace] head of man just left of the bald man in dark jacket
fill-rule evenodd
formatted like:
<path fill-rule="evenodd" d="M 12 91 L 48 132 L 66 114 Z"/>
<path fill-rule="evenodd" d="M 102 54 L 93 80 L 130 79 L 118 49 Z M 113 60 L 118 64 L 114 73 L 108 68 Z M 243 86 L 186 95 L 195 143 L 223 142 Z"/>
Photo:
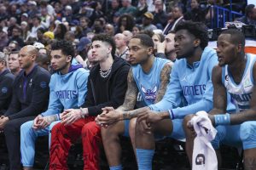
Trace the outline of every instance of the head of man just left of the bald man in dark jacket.
<path fill-rule="evenodd" d="M 9 70 L 15 77 L 17 77 L 21 71 L 20 63 L 19 63 L 19 52 L 11 51 L 8 57 L 8 67 Z"/>

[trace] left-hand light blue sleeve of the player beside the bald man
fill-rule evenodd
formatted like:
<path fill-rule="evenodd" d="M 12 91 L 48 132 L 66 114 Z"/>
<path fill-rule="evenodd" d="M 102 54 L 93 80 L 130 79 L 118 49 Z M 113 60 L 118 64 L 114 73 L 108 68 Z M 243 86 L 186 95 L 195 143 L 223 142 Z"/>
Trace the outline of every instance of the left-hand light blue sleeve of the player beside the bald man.
<path fill-rule="evenodd" d="M 44 111 L 41 115 L 42 116 L 50 116 L 60 113 L 63 110 L 63 105 L 61 104 L 60 99 L 55 94 L 54 91 L 54 83 L 55 78 L 52 76 L 49 82 L 49 105 L 48 110 Z"/>

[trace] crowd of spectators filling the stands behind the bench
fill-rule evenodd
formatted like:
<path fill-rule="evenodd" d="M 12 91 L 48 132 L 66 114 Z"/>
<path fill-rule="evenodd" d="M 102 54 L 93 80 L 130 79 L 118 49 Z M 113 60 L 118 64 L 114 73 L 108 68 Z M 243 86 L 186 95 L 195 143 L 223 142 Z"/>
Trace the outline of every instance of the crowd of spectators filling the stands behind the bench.
<path fill-rule="evenodd" d="M 35 42 L 40 42 L 38 48 L 50 50 L 53 40 L 66 39 L 73 42 L 83 64 L 95 34 L 122 33 L 127 42 L 139 31 L 166 35 L 182 20 L 201 21 L 211 27 L 214 17 L 211 6 L 227 3 L 229 1 L 218 0 L 3 0 L 0 3 L 0 51 L 8 54 Z M 245 13 L 241 21 L 255 25 L 256 8 L 251 5 L 245 9 L 245 1 L 234 4 L 234 10 Z M 124 52 L 122 48 L 118 53 Z"/>

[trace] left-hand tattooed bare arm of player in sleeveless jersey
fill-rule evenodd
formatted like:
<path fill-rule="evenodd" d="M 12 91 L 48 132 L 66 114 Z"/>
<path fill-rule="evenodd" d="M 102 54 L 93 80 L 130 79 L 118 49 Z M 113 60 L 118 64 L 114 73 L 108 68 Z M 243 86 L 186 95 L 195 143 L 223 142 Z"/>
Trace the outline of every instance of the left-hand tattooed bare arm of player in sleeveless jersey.
<path fill-rule="evenodd" d="M 137 84 L 133 79 L 132 68 L 130 69 L 127 77 L 127 90 L 125 94 L 125 101 L 123 105 L 120 105 L 117 111 L 131 111 L 137 101 Z"/>

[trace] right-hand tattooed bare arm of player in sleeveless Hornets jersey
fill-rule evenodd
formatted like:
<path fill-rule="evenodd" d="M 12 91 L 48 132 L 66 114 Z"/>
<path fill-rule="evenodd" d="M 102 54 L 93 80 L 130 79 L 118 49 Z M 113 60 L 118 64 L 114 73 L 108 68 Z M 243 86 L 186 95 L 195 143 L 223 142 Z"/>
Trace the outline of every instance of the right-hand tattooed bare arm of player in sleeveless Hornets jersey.
<path fill-rule="evenodd" d="M 158 103 L 161 99 L 163 99 L 164 95 L 166 94 L 167 85 L 170 82 L 172 65 L 173 65 L 172 62 L 166 63 L 166 65 L 163 67 L 162 71 L 160 72 L 160 89 L 156 94 L 154 103 Z"/>

